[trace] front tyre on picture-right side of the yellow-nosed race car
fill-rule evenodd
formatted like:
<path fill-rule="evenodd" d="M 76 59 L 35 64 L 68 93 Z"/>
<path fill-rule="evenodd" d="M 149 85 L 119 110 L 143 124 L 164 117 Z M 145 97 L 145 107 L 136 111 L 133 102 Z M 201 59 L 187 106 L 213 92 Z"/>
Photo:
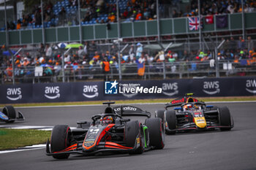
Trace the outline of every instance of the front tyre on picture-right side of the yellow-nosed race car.
<path fill-rule="evenodd" d="M 227 107 L 219 107 L 219 124 L 231 126 L 230 110 Z M 220 128 L 221 131 L 230 131 L 231 127 Z"/>

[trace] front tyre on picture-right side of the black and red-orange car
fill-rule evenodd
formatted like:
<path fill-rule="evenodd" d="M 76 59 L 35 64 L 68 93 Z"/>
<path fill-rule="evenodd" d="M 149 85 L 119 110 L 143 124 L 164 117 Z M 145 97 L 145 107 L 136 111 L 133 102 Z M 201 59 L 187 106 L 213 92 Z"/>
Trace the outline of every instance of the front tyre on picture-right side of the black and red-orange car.
<path fill-rule="evenodd" d="M 130 121 L 127 122 L 125 125 L 124 130 L 125 136 L 125 142 L 127 143 L 127 147 L 135 147 L 135 144 L 139 143 L 139 147 L 132 152 L 129 152 L 129 154 L 141 154 L 144 152 L 144 146 L 145 146 L 145 139 L 144 139 L 144 133 L 143 133 L 143 127 L 142 125 L 136 121 Z"/>

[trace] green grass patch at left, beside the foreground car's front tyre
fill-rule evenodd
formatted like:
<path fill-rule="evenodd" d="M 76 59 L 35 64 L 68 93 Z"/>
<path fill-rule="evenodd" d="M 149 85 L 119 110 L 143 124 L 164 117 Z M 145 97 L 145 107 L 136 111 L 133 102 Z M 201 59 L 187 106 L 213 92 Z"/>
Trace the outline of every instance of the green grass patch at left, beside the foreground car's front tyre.
<path fill-rule="evenodd" d="M 50 131 L 0 128 L 0 150 L 15 149 L 33 144 L 45 144 Z"/>

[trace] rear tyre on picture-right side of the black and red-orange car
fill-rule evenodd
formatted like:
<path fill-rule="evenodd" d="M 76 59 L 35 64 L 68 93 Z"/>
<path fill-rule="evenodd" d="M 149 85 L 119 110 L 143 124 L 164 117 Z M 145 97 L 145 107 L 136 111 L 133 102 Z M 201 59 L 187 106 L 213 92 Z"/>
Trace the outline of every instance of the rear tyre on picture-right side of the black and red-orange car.
<path fill-rule="evenodd" d="M 165 147 L 165 128 L 161 118 L 155 117 L 145 120 L 148 127 L 149 143 L 156 149 L 161 150 Z"/>

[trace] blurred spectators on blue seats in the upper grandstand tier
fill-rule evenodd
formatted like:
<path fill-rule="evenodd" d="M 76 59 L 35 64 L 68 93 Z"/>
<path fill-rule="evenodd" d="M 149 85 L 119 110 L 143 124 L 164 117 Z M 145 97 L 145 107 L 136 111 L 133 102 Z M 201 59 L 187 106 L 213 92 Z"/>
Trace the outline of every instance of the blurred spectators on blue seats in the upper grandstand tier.
<path fill-rule="evenodd" d="M 119 0 L 119 16 L 122 22 L 157 19 L 157 2 L 154 0 Z M 178 18 L 198 15 L 197 0 L 192 0 L 183 11 L 181 0 L 159 0 L 160 18 Z M 43 3 L 43 17 L 40 4 L 31 12 L 24 12 L 22 18 L 7 23 L 9 29 L 75 26 L 79 24 L 78 0 L 63 0 L 53 4 L 50 0 Z M 201 15 L 218 15 L 241 12 L 241 0 L 201 1 Z M 114 23 L 116 18 L 116 0 L 80 0 L 80 18 L 82 25 L 95 23 Z M 244 12 L 256 12 L 256 2 L 244 1 Z M 4 28 L 1 28 L 4 30 Z"/>

